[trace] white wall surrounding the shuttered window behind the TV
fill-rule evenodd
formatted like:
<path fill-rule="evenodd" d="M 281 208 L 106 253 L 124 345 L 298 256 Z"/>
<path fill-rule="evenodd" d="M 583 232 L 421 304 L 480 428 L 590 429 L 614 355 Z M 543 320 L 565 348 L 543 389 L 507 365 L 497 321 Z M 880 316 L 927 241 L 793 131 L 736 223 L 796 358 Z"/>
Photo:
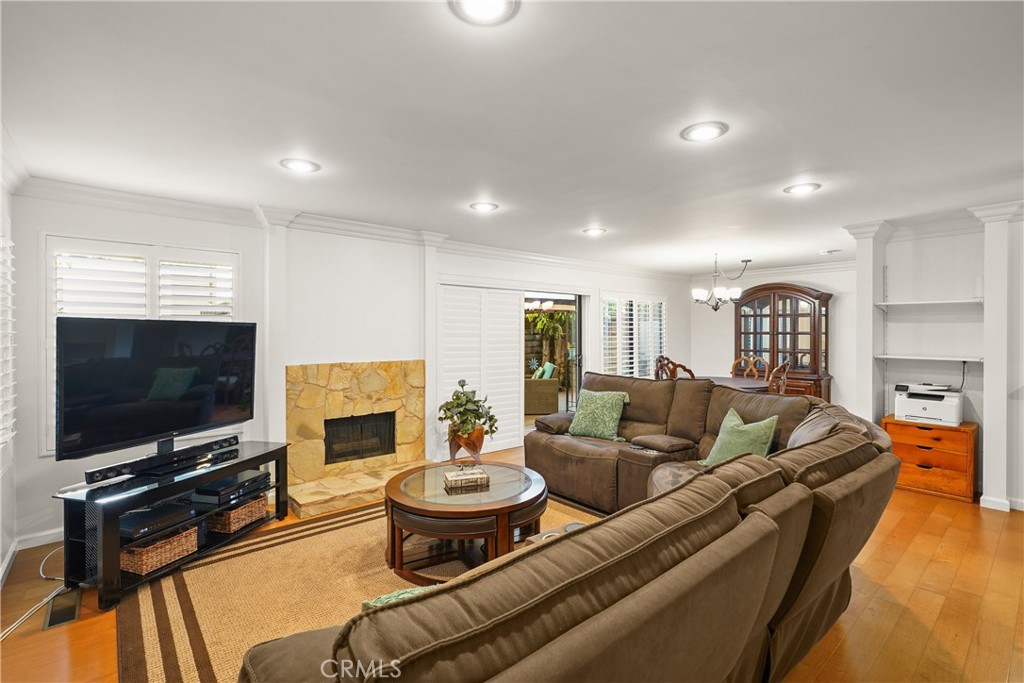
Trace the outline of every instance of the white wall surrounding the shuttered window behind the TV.
<path fill-rule="evenodd" d="M 114 203 L 112 203 L 114 204 Z M 61 487 L 83 480 L 86 469 L 140 457 L 152 449 L 139 447 L 57 463 L 44 447 L 46 405 L 45 296 L 47 234 L 110 240 L 170 247 L 230 251 L 239 254 L 240 287 L 236 319 L 260 325 L 257 349 L 265 338 L 264 310 L 265 236 L 255 226 L 171 217 L 71 201 L 16 196 L 13 203 L 14 259 L 17 269 L 15 321 L 17 356 L 17 434 L 14 439 L 17 536 L 24 548 L 60 538 L 60 504 L 51 497 Z M 264 367 L 257 382 L 262 382 Z M 256 417 L 246 423 L 243 436 L 265 438 L 265 407 L 257 403 Z M 209 434 L 190 440 L 208 440 Z"/>

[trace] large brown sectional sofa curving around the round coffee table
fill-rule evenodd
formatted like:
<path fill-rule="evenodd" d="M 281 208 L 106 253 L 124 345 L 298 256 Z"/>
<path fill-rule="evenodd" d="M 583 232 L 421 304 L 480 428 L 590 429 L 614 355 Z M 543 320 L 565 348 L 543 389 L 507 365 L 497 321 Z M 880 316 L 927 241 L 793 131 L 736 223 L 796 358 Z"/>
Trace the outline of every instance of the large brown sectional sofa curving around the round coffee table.
<path fill-rule="evenodd" d="M 743 407 L 744 419 L 766 410 L 721 387 L 663 382 L 635 390 L 706 396 L 709 416 L 726 398 Z M 768 398 L 794 410 L 790 397 Z M 779 421 L 788 431 L 769 458 L 739 456 L 707 469 L 691 460 L 710 449 L 710 417 L 701 433 L 678 420 L 675 435 L 670 416 L 657 423 L 644 419 L 662 416 L 655 407 L 634 407 L 624 416 L 634 438 L 690 442 L 657 452 L 690 458 L 648 468 L 650 498 L 343 626 L 257 645 L 240 681 L 371 681 L 395 671 L 410 681 L 780 680 L 846 608 L 850 563 L 899 471 L 884 433 L 838 407 L 805 401 L 802 419 Z M 594 452 L 602 462 L 582 468 L 610 477 L 616 501 L 618 461 L 632 455 L 621 451 Z M 570 461 L 585 453 L 564 443 L 555 451 Z M 577 486 L 580 470 L 565 465 L 557 474 Z M 607 496 L 607 480 L 597 483 Z M 322 674 L 326 660 L 332 677 Z M 375 663 L 384 666 L 368 673 Z"/>

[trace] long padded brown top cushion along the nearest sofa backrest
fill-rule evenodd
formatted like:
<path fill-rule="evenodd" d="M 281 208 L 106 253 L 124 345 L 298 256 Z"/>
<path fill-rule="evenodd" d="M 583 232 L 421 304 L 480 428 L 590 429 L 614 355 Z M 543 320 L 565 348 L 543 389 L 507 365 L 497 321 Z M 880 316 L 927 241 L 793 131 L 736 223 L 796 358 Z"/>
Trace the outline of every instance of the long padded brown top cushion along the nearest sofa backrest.
<path fill-rule="evenodd" d="M 397 659 L 402 678 L 409 680 L 489 679 L 588 623 L 617 628 L 605 610 L 634 593 L 650 595 L 649 586 L 658 578 L 672 577 L 670 590 L 677 591 L 655 592 L 660 606 L 680 600 L 685 604 L 683 595 L 690 593 L 684 587 L 696 575 L 673 569 L 690 558 L 718 555 L 701 551 L 739 521 L 728 485 L 713 477 L 694 477 L 578 531 L 520 551 L 490 570 L 356 615 L 338 636 L 336 658 Z M 774 543 L 773 537 L 769 560 Z M 764 552 L 756 554 L 764 558 Z M 755 574 L 743 580 L 767 581 L 767 575 Z M 743 592 L 738 584 L 730 590 Z M 759 607 L 760 598 L 754 612 Z M 633 621 L 623 624 L 621 633 L 643 629 L 640 622 L 649 616 L 643 610 L 631 613 Z M 678 620 L 675 609 L 659 612 L 657 618 L 669 614 Z M 627 656 L 614 654 L 620 645 L 613 634 L 603 637 L 603 642 L 589 643 L 590 651 Z M 708 642 L 723 639 L 725 634 L 719 633 Z"/>

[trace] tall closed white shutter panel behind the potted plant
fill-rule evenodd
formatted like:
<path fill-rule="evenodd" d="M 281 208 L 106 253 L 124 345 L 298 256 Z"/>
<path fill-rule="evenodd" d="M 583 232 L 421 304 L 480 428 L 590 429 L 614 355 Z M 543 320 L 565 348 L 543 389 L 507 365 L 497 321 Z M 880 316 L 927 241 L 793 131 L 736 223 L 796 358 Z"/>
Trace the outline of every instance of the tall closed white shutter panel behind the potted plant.
<path fill-rule="evenodd" d="M 444 285 L 439 303 L 438 400 L 466 380 L 498 417 L 483 452 L 522 445 L 522 293 Z M 445 426 L 436 424 L 440 447 Z M 446 457 L 447 447 L 438 453 Z"/>

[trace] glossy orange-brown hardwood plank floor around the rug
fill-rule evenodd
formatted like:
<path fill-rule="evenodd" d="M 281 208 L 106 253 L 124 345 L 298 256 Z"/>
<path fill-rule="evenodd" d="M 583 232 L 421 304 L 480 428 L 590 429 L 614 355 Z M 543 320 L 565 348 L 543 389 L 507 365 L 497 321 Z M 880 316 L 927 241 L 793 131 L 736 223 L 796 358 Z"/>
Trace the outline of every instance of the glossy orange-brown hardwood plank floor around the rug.
<path fill-rule="evenodd" d="M 521 464 L 522 450 L 485 458 Z M 0 591 L 3 628 L 56 588 L 38 573 L 55 547 L 17 554 Z M 849 608 L 786 680 L 1024 681 L 1022 587 L 1024 513 L 897 490 L 854 562 Z M 115 612 L 95 604 L 86 591 L 81 618 L 49 631 L 37 612 L 0 645 L 0 680 L 117 680 Z"/>

